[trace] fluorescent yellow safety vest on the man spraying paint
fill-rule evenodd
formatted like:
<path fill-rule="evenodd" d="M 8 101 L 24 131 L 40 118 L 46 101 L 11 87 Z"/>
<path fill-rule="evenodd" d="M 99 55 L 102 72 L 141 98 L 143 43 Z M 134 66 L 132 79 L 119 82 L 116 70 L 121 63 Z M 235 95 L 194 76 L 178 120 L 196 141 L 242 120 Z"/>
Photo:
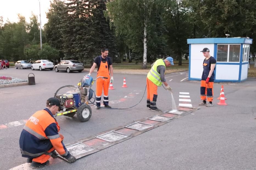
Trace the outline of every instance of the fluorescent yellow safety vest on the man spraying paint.
<path fill-rule="evenodd" d="M 157 72 L 157 66 L 161 66 L 161 65 L 165 67 L 164 60 L 162 59 L 156 60 L 156 62 L 154 63 L 154 65 L 152 66 L 152 68 L 150 69 L 147 75 L 147 78 L 157 86 L 162 85 L 160 74 Z"/>

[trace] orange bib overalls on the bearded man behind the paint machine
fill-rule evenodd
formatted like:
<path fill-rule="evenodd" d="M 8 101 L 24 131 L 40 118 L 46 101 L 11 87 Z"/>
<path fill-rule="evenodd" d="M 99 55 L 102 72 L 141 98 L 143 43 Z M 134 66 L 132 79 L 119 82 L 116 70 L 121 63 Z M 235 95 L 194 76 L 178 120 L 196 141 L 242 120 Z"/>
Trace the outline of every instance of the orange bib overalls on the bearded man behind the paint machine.
<path fill-rule="evenodd" d="M 97 77 L 103 76 L 108 77 L 108 79 L 98 78 L 96 81 L 96 105 L 100 107 L 100 100 L 102 95 L 102 89 L 104 91 L 103 104 L 108 105 L 108 87 L 110 82 L 109 69 L 108 69 L 108 57 L 106 57 L 106 62 L 102 61 L 102 56 L 100 57 L 100 68 L 97 72 Z"/>

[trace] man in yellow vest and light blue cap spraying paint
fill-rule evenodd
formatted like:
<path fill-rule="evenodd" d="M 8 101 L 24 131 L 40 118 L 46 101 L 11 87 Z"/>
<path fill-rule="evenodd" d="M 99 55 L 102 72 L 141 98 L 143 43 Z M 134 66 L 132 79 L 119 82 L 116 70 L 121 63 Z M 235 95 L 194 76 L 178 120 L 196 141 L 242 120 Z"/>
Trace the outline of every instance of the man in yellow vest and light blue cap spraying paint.
<path fill-rule="evenodd" d="M 162 110 L 156 107 L 157 86 L 161 86 L 164 83 L 166 89 L 171 91 L 171 87 L 164 78 L 164 73 L 166 66 L 174 65 L 173 58 L 158 59 L 152 65 L 147 75 L 147 107 L 152 111 L 161 112 Z"/>

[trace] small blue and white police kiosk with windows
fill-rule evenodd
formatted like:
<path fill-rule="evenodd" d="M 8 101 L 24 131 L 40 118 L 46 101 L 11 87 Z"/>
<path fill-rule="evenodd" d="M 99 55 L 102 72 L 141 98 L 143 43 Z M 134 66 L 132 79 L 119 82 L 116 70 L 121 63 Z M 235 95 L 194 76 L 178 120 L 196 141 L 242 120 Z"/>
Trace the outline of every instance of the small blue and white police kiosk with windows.
<path fill-rule="evenodd" d="M 199 38 L 187 39 L 189 44 L 189 80 L 201 80 L 203 48 L 209 48 L 216 59 L 215 82 L 241 82 L 247 79 L 250 44 L 249 38 Z"/>

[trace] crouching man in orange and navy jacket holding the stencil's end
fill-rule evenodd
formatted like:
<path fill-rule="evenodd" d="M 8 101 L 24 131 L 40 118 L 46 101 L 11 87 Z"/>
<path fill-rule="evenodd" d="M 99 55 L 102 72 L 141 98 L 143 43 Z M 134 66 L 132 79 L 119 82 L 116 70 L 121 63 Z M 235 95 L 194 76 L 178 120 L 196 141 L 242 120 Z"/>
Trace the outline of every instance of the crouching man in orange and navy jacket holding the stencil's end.
<path fill-rule="evenodd" d="M 76 160 L 62 142 L 64 137 L 59 134 L 60 126 L 53 116 L 59 108 L 63 109 L 60 101 L 55 97 L 49 98 L 46 108 L 34 113 L 21 132 L 19 146 L 22 157 L 26 157 L 33 167 L 48 165 L 51 156 L 58 157 L 55 150 L 69 163 Z"/>

